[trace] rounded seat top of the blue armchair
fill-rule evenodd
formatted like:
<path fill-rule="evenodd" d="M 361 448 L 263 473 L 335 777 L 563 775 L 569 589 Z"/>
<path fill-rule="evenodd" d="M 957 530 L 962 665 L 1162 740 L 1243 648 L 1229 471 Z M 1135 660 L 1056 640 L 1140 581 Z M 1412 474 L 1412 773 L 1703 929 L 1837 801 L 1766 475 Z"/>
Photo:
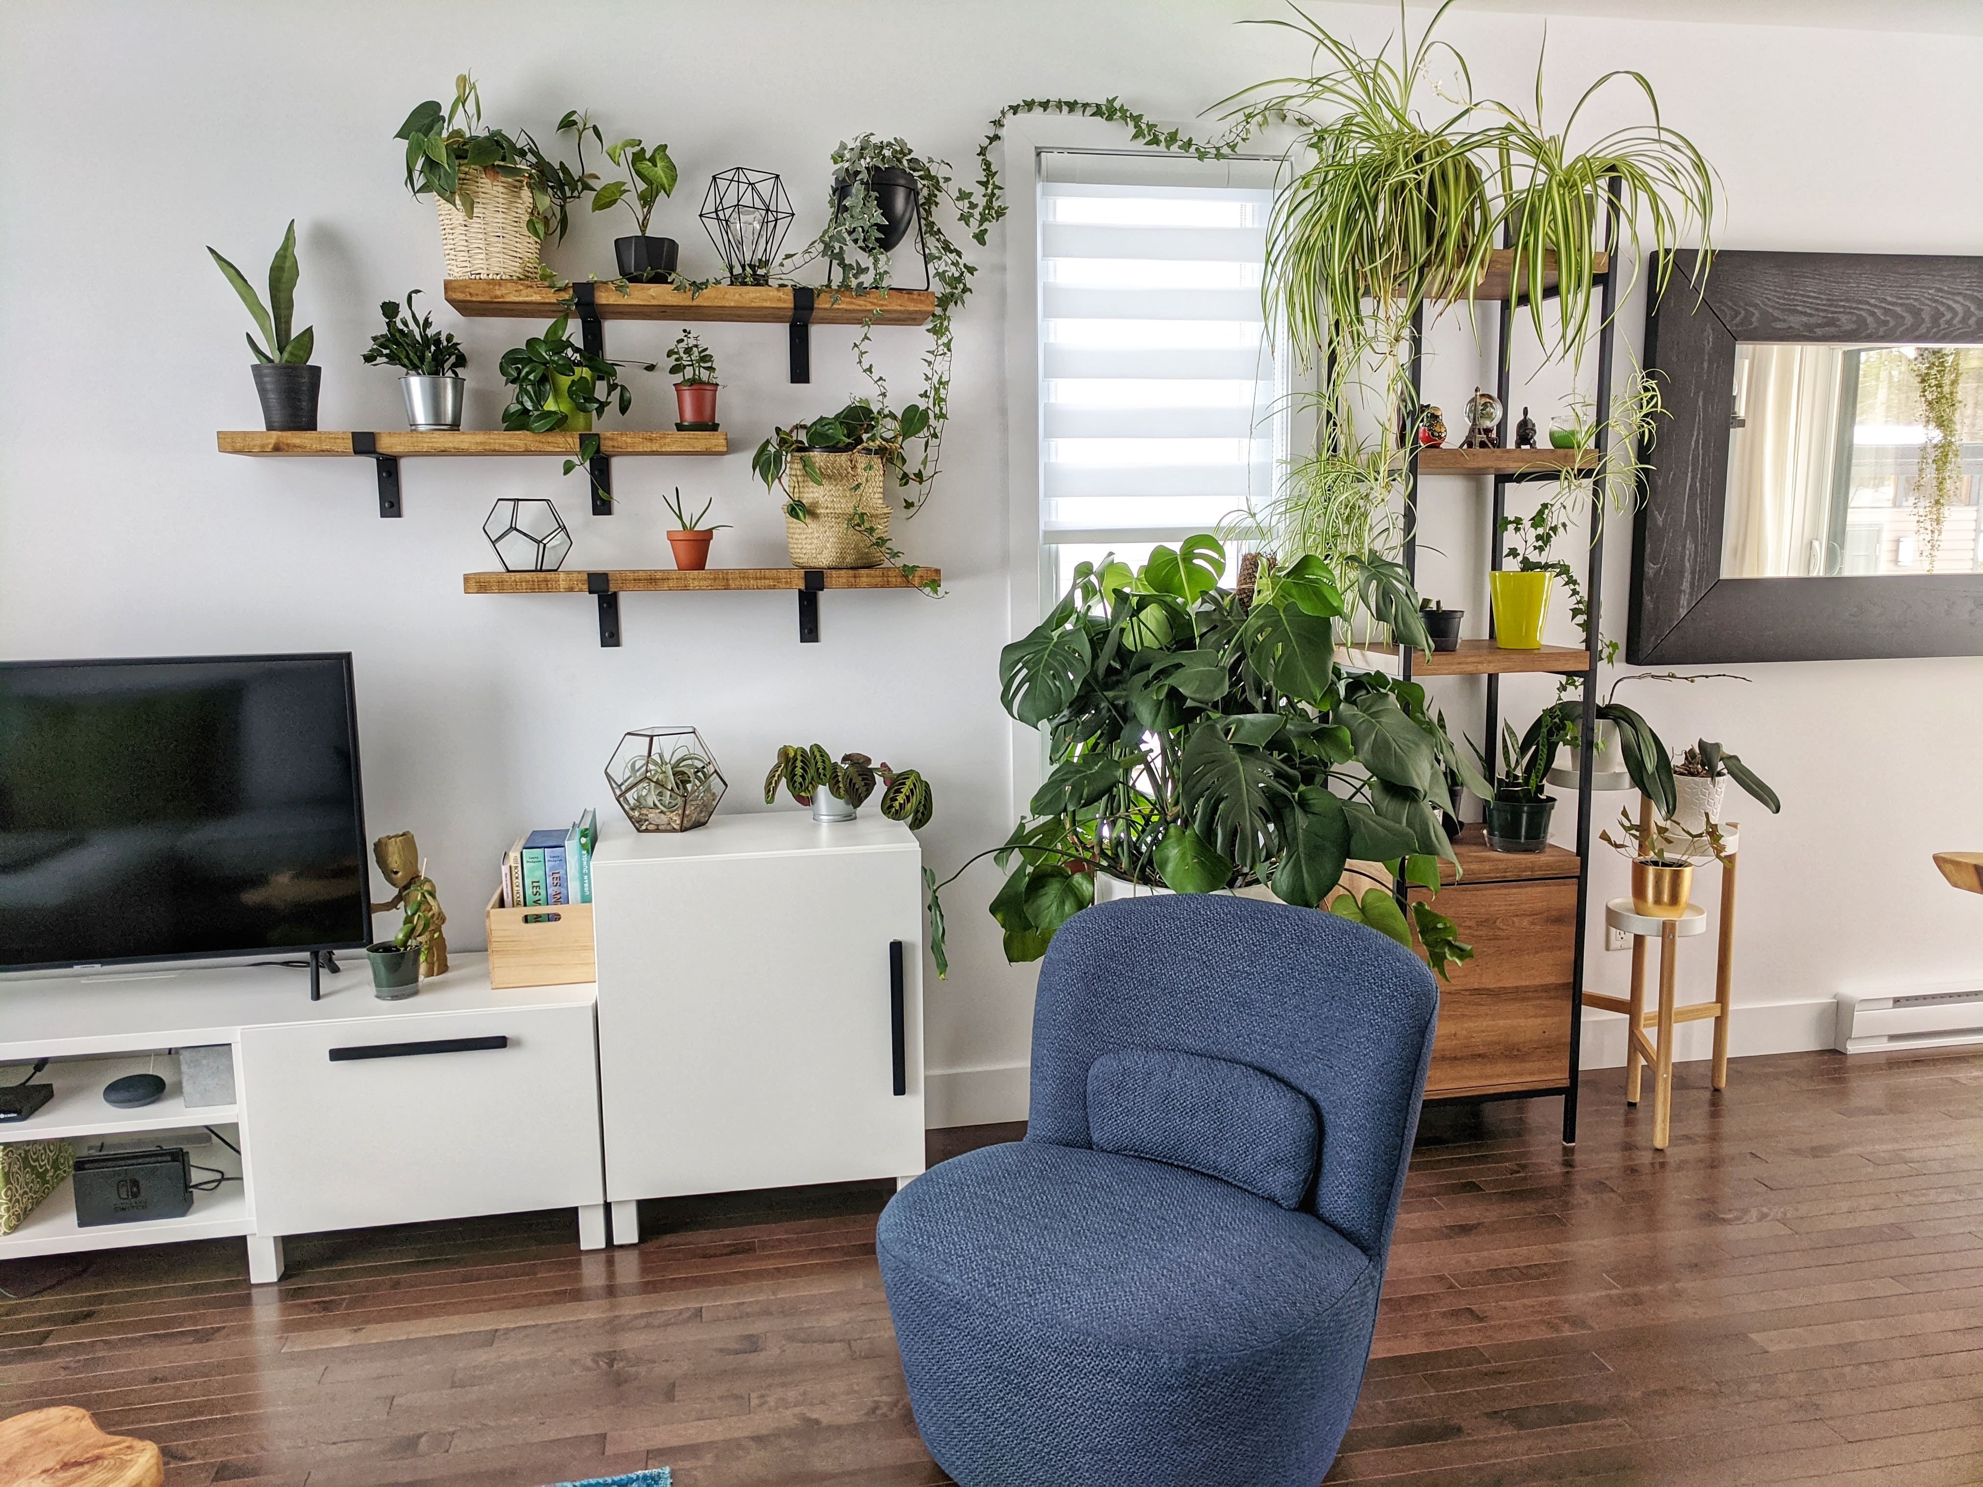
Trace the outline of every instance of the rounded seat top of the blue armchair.
<path fill-rule="evenodd" d="M 896 1194 L 876 1249 L 1041 1342 L 1220 1356 L 1313 1328 L 1376 1273 L 1311 1213 L 1200 1172 L 1041 1140 L 940 1162 Z M 1364 1320 L 1362 1326 L 1368 1326 Z M 1362 1350 L 1368 1334 L 1348 1336 Z"/>

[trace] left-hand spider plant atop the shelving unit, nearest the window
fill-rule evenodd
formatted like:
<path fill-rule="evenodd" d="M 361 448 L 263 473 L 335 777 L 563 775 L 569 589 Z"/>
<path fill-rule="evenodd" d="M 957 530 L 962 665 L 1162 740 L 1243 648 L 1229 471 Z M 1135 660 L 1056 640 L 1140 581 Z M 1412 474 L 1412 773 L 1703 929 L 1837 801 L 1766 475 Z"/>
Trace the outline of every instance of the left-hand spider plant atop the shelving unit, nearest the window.
<path fill-rule="evenodd" d="M 1481 159 L 1491 133 L 1467 129 L 1473 115 L 1465 59 L 1432 28 L 1454 0 L 1410 40 L 1400 4 L 1398 56 L 1390 42 L 1364 56 L 1309 14 L 1281 26 L 1313 44 L 1309 77 L 1277 77 L 1225 99 L 1239 125 L 1285 121 L 1301 129 L 1297 149 L 1313 163 L 1275 192 L 1267 222 L 1265 301 L 1303 353 L 1331 349 L 1337 375 L 1364 353 L 1402 343 L 1428 297 L 1471 293 L 1493 246 L 1495 204 Z M 1446 54 L 1465 95 L 1446 99 L 1428 121 L 1420 83 Z M 1364 299 L 1376 313 L 1364 315 Z M 1335 377 L 1331 377 L 1335 381 Z"/>

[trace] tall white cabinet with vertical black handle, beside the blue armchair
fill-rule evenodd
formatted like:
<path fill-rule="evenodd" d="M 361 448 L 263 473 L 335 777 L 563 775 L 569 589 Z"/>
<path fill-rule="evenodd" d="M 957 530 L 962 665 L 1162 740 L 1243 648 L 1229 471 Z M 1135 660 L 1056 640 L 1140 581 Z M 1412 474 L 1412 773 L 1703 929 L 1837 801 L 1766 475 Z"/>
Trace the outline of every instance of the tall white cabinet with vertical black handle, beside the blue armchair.
<path fill-rule="evenodd" d="M 873 817 L 873 819 L 871 819 Z M 593 857 L 615 1239 L 631 1200 L 922 1172 L 922 855 L 867 809 Z"/>

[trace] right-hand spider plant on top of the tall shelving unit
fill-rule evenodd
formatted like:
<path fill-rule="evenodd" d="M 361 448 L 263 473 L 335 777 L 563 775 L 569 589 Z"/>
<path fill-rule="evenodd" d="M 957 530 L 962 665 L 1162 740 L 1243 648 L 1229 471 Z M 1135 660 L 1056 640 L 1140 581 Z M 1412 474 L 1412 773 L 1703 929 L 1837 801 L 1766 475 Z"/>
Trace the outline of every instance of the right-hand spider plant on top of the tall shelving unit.
<path fill-rule="evenodd" d="M 1444 8 L 1442 8 L 1444 10 Z M 1578 115 L 1612 81 L 1636 83 L 1652 111 L 1652 123 L 1614 129 L 1571 153 L 1569 137 Z M 1543 127 L 1543 57 L 1535 59 L 1535 117 L 1505 103 L 1483 109 L 1501 123 L 1485 131 L 1491 139 L 1497 198 L 1495 228 L 1513 250 L 1511 284 L 1527 297 L 1535 333 L 1545 347 L 1575 361 L 1590 331 L 1590 299 L 1596 284 L 1592 250 L 1602 230 L 1606 198 L 1618 204 L 1618 248 L 1630 244 L 1634 276 L 1644 258 L 1640 218 L 1652 234 L 1656 284 L 1666 289 L 1672 276 L 1672 248 L 1699 228 L 1701 274 L 1713 258 L 1715 172 L 1695 145 L 1660 121 L 1660 99 L 1644 73 L 1608 71 L 1584 89 L 1559 133 Z M 1559 319 L 1555 337 L 1545 325 L 1543 291 L 1557 276 Z M 1630 289 L 1630 284 L 1622 286 Z M 1620 299 L 1624 295 L 1620 293 Z"/>

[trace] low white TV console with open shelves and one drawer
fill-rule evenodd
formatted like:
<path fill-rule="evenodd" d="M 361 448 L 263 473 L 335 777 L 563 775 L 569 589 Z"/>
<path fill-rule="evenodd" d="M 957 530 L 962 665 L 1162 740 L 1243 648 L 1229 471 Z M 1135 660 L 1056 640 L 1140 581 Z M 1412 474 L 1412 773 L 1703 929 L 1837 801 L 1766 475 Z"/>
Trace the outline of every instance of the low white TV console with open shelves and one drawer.
<path fill-rule="evenodd" d="M 36 1059 L 56 1096 L 0 1142 L 157 1136 L 212 1126 L 240 1148 L 192 1160 L 238 1182 L 194 1194 L 176 1219 L 79 1227 L 69 1184 L 10 1235 L 0 1259 L 176 1239 L 248 1239 L 252 1281 L 282 1275 L 282 1237 L 373 1223 L 575 1207 L 601 1249 L 605 1178 L 591 985 L 496 991 L 484 956 L 405 1001 L 373 995 L 363 956 L 323 977 L 282 968 L 105 972 L 0 983 L 0 1067 Z M 234 1102 L 184 1104 L 169 1051 L 228 1045 Z M 155 1069 L 165 1096 L 103 1102 L 119 1075 Z M 194 1174 L 196 1178 L 200 1174 Z"/>

